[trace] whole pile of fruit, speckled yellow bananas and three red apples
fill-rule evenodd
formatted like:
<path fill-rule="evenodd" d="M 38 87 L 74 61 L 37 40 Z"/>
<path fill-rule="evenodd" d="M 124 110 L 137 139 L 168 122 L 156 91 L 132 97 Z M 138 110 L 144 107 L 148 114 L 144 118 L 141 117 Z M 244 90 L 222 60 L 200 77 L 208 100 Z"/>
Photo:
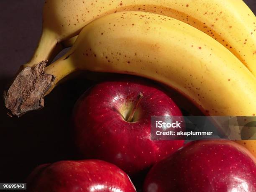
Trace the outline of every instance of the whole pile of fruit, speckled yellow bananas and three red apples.
<path fill-rule="evenodd" d="M 152 141 L 151 116 L 182 113 L 161 87 L 134 77 L 176 90 L 204 115 L 255 116 L 256 17 L 242 0 L 46 0 L 38 47 L 5 106 L 18 117 L 41 109 L 77 71 L 133 76 L 80 98 L 72 125 L 89 160 L 38 166 L 30 191 L 136 191 L 132 182 L 145 192 L 256 191 L 256 141 Z"/>

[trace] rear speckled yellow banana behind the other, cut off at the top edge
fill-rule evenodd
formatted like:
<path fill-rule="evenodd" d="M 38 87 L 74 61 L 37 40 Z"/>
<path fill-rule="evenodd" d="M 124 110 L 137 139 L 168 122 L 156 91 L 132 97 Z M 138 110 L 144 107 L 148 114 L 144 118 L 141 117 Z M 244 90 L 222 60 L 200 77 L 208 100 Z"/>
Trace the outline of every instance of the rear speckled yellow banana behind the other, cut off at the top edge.
<path fill-rule="evenodd" d="M 56 44 L 70 46 L 75 38 L 68 39 L 85 25 L 120 11 L 159 13 L 188 23 L 223 44 L 256 75 L 256 18 L 242 0 L 46 0 L 38 48 L 23 68 L 50 60 Z"/>

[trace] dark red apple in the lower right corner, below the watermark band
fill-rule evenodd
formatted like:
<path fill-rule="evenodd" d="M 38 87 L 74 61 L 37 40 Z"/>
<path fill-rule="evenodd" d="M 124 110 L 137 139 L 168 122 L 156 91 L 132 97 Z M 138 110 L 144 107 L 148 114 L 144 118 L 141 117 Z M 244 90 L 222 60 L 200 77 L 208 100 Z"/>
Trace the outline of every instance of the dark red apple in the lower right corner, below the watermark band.
<path fill-rule="evenodd" d="M 233 141 L 195 141 L 159 161 L 144 192 L 255 192 L 256 159 Z"/>

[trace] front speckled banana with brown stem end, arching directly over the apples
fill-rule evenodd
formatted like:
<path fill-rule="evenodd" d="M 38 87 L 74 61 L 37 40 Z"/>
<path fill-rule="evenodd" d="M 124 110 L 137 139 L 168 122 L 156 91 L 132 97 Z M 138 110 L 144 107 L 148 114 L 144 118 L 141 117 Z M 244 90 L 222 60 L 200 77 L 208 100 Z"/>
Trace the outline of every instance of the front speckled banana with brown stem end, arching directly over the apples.
<path fill-rule="evenodd" d="M 17 92 L 10 87 L 5 103 L 13 114 L 42 107 L 43 97 L 79 70 L 154 79 L 188 97 L 205 115 L 256 114 L 256 78 L 241 61 L 202 31 L 155 13 L 118 12 L 97 19 L 67 54 L 44 66 L 25 68 L 22 78 L 32 79 L 14 82 Z"/>

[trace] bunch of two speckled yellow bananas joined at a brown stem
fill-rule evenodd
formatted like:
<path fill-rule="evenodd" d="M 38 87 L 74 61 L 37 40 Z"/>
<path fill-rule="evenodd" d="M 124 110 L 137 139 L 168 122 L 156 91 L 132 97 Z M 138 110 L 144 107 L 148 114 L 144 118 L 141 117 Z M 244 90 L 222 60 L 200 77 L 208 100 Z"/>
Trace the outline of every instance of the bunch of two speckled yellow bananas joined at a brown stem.
<path fill-rule="evenodd" d="M 256 114 L 256 18 L 242 0 L 51 0 L 43 18 L 38 48 L 5 97 L 13 115 L 43 107 L 79 70 L 154 79 L 205 115 Z M 255 141 L 245 145 L 256 155 Z"/>

